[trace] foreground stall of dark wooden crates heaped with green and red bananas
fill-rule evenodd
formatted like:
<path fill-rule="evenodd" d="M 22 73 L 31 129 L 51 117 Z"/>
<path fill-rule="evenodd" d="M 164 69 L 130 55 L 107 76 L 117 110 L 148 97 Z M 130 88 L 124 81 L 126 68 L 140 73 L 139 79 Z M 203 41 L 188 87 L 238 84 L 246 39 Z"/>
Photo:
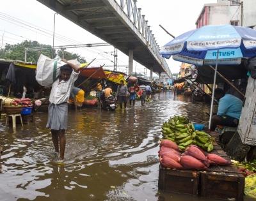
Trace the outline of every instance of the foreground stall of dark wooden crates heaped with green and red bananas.
<path fill-rule="evenodd" d="M 209 135 L 202 128 L 184 116 L 174 116 L 163 123 L 159 190 L 243 200 L 243 174 L 218 145 L 218 135 Z"/>

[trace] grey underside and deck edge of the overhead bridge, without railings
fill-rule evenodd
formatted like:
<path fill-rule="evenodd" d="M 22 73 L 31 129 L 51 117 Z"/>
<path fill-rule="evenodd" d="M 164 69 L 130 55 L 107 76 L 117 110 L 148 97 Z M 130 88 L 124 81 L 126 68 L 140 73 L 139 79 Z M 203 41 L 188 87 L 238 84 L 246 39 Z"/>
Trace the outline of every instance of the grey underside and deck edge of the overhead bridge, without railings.
<path fill-rule="evenodd" d="M 90 33 L 107 41 L 154 72 L 163 72 L 161 61 L 147 41 L 113 0 L 37 0 Z"/>

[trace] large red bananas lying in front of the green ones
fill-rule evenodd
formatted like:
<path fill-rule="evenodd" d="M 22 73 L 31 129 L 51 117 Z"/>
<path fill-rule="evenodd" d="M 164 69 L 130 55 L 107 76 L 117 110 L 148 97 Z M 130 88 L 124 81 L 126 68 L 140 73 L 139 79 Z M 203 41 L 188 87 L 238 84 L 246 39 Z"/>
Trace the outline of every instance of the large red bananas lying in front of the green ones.
<path fill-rule="evenodd" d="M 210 165 L 230 165 L 231 161 L 217 154 L 206 154 L 200 147 L 189 145 L 182 153 L 175 142 L 162 140 L 159 161 L 163 167 L 189 170 L 206 170 Z"/>

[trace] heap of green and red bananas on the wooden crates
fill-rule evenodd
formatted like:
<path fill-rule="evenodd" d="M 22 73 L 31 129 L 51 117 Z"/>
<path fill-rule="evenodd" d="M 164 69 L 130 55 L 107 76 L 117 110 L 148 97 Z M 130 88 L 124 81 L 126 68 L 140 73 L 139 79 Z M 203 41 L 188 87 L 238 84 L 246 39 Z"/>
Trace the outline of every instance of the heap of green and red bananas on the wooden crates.
<path fill-rule="evenodd" d="M 174 169 L 206 170 L 210 165 L 230 165 L 231 161 L 213 150 L 214 138 L 204 131 L 195 130 L 188 117 L 174 116 L 162 126 L 159 161 L 163 167 Z"/>

